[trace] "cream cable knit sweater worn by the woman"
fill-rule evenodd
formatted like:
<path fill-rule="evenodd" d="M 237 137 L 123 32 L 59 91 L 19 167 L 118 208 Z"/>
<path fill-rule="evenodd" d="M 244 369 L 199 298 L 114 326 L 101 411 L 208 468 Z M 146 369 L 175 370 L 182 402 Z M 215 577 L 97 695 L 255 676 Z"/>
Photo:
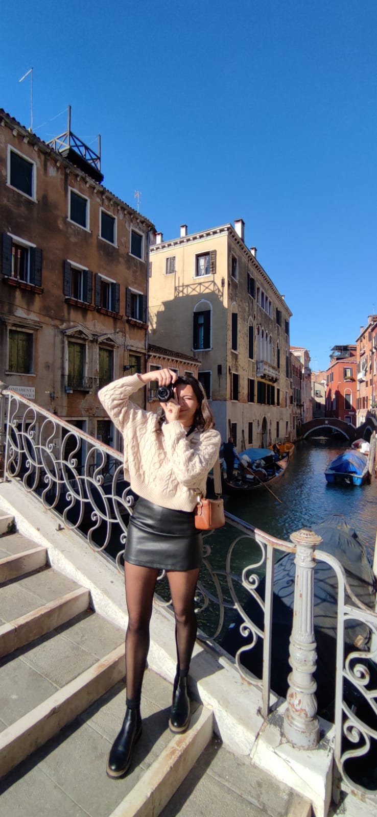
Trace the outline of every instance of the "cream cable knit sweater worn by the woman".
<path fill-rule="evenodd" d="M 155 413 L 143 411 L 129 397 L 144 383 L 137 374 L 104 386 L 98 398 L 123 434 L 124 477 L 139 496 L 166 508 L 193 511 L 198 493 L 205 496 L 207 475 L 218 458 L 221 437 L 213 428 L 186 430 L 179 420 L 159 426 Z"/>

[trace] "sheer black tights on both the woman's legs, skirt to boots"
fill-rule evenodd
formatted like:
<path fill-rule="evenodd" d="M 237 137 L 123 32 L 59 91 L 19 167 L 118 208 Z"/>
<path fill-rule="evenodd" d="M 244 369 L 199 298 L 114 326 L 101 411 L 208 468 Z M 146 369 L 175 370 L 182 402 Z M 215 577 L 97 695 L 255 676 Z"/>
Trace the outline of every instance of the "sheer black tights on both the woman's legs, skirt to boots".
<path fill-rule="evenodd" d="M 149 624 L 152 614 L 155 583 L 159 570 L 124 563 L 124 584 L 128 609 L 126 633 L 127 699 L 140 701 L 141 684 L 150 645 Z M 196 638 L 194 607 L 195 587 L 199 568 L 167 571 L 176 622 L 177 669 L 187 674 Z"/>

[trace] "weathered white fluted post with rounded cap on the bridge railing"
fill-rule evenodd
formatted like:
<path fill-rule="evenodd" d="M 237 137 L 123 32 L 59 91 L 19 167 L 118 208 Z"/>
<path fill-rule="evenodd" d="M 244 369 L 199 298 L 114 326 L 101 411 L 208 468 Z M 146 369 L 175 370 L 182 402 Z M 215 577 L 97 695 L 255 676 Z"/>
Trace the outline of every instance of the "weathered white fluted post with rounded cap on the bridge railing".
<path fill-rule="evenodd" d="M 294 746 L 315 748 L 319 740 L 316 717 L 316 641 L 314 638 L 314 565 L 313 551 L 322 541 L 312 530 L 302 528 L 290 535 L 297 547 L 294 563 L 294 619 L 289 640 L 289 690 L 284 714 L 285 737 Z"/>

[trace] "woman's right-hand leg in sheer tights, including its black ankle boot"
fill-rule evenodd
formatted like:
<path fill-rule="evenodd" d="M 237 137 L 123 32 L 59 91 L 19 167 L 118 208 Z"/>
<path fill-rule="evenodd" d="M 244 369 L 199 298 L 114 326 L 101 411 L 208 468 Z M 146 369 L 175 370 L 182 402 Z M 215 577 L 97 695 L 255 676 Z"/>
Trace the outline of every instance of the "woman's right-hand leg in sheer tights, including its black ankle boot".
<path fill-rule="evenodd" d="M 174 679 L 173 704 L 169 717 L 169 727 L 173 732 L 184 732 L 190 723 L 187 675 L 197 629 L 194 599 L 198 576 L 199 568 L 185 572 L 168 572 L 177 644 L 177 674 Z"/>

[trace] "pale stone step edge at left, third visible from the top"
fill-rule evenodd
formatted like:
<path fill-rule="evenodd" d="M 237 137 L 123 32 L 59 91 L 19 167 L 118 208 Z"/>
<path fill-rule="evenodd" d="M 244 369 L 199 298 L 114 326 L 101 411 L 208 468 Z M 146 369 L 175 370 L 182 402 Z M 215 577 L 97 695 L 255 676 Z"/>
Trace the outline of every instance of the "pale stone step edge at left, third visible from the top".
<path fill-rule="evenodd" d="M 0 657 L 44 636 L 83 613 L 90 605 L 90 593 L 83 587 L 47 602 L 37 609 L 0 626 Z"/>

